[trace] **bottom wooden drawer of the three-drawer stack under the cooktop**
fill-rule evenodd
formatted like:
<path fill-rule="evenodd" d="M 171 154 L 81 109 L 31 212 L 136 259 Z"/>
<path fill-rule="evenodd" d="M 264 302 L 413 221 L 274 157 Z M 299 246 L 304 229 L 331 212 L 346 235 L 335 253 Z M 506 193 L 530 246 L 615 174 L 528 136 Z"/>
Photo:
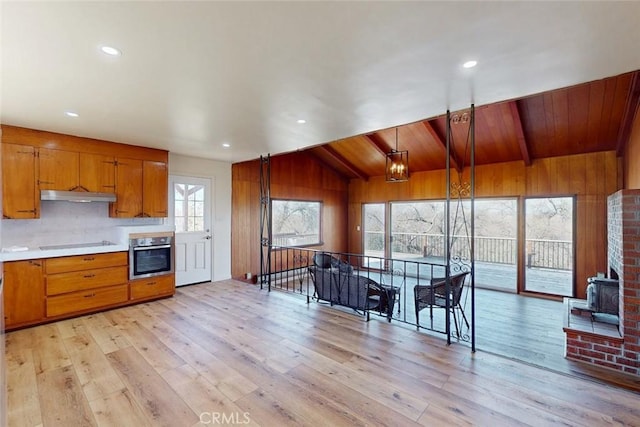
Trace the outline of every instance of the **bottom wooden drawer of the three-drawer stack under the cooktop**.
<path fill-rule="evenodd" d="M 129 289 L 126 284 L 57 295 L 47 298 L 47 317 L 120 304 L 126 302 L 128 297 Z"/>

